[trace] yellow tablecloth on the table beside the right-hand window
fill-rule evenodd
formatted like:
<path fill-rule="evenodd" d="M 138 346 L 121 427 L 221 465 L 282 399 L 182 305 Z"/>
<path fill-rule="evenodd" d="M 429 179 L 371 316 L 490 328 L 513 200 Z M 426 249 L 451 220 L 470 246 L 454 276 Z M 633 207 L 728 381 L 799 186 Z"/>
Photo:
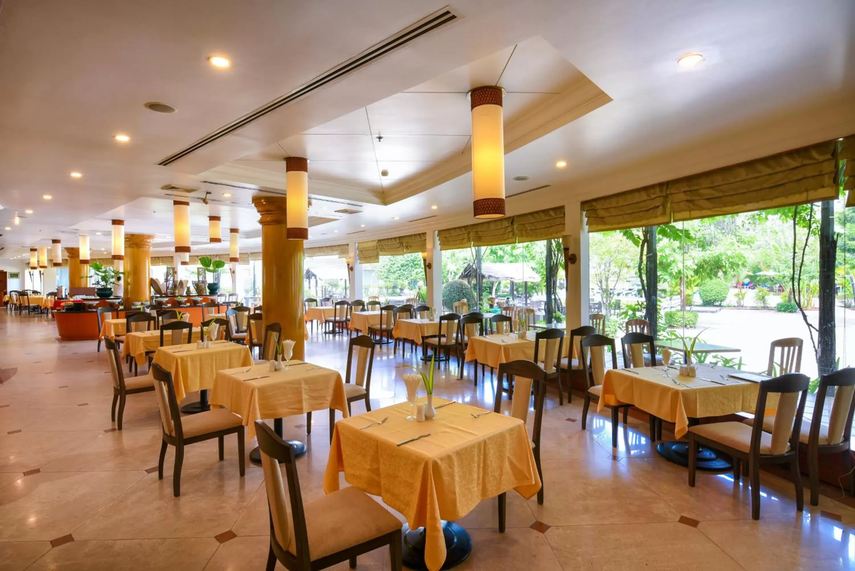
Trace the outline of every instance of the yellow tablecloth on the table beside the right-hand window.
<path fill-rule="evenodd" d="M 674 423 L 675 437 L 688 431 L 688 419 L 705 416 L 752 412 L 757 405 L 759 385 L 748 381 L 728 378 L 734 369 L 695 366 L 696 377 L 683 377 L 669 369 L 671 378 L 665 377 L 661 366 L 631 369 L 609 369 L 603 379 L 602 395 L 618 401 L 631 402 L 635 407 L 660 419 Z M 702 378 L 711 378 L 726 385 L 715 384 Z M 674 384 L 674 381 L 680 384 Z M 686 386 L 682 386 L 686 385 Z M 691 388 L 687 388 L 691 387 Z M 597 410 L 606 402 L 600 398 Z M 769 395 L 769 406 L 777 406 L 777 396 Z M 771 412 L 772 409 L 769 409 Z"/>

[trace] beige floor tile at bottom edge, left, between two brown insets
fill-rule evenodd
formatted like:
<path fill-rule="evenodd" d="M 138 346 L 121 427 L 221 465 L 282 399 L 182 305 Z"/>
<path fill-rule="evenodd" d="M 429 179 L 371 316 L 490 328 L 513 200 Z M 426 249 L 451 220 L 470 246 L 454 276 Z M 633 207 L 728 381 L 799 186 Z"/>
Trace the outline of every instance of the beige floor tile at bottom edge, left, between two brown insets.
<path fill-rule="evenodd" d="M 31 571 L 201 571 L 219 544 L 214 538 L 73 541 L 50 550 Z"/>

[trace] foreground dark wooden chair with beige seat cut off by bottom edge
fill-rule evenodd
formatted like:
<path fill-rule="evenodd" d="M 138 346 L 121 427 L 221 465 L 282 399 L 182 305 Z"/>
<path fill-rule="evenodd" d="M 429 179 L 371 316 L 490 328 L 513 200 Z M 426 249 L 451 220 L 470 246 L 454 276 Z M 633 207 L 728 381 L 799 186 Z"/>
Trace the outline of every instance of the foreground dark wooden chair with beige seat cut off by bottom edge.
<path fill-rule="evenodd" d="M 270 515 L 267 571 L 274 571 L 277 561 L 289 571 L 315 571 L 344 561 L 356 568 L 357 556 L 384 545 L 389 546 L 392 571 L 401 571 L 397 517 L 355 486 L 304 504 L 294 449 L 262 420 L 256 421 L 256 434 Z"/>

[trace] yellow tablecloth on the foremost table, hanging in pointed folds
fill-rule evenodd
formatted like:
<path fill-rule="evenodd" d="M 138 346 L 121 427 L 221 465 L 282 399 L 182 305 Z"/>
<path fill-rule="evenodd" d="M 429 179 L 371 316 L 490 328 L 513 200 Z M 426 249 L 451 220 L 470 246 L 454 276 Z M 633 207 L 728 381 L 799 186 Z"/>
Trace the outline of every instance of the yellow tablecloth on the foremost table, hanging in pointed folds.
<path fill-rule="evenodd" d="M 434 406 L 444 400 L 437 399 Z M 540 490 L 528 432 L 522 420 L 485 414 L 457 403 L 428 422 L 406 419 L 407 403 L 359 414 L 335 424 L 324 491 L 339 489 L 339 472 L 357 488 L 397 509 L 411 528 L 425 527 L 425 563 L 437 571 L 445 562 L 442 520 L 459 520 L 481 500 L 516 490 Z M 389 419 L 366 430 L 361 426 Z M 431 436 L 397 446 L 429 432 Z"/>

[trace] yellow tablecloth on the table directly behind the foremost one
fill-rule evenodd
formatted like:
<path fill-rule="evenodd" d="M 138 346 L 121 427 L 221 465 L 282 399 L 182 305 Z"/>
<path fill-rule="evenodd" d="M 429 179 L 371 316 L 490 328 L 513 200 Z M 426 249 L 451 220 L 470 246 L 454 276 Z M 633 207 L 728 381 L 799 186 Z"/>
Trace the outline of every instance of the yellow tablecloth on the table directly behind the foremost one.
<path fill-rule="evenodd" d="M 256 435 L 258 419 L 280 419 L 294 414 L 335 408 L 346 419 L 347 397 L 338 371 L 293 360 L 289 371 L 270 371 L 268 363 L 217 372 L 211 390 L 211 404 L 239 413 Z M 253 380 L 246 381 L 244 379 Z"/>

